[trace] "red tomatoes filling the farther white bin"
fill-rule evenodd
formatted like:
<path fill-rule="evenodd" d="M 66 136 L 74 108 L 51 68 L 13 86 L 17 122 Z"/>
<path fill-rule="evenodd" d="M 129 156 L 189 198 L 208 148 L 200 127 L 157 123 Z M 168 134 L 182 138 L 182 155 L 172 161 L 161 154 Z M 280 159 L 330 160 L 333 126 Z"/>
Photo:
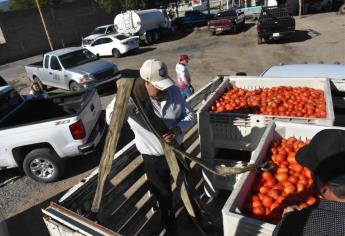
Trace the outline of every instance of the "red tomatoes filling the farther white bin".
<path fill-rule="evenodd" d="M 307 87 L 230 88 L 211 107 L 212 112 L 274 116 L 326 117 L 324 92 Z"/>

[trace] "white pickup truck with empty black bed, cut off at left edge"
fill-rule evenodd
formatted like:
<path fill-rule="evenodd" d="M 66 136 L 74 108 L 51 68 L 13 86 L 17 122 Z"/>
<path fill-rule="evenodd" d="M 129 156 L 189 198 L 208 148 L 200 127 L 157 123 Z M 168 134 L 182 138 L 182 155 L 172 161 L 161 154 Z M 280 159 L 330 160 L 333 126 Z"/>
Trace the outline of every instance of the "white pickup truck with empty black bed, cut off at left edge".
<path fill-rule="evenodd" d="M 25 99 L 0 87 L 0 169 L 19 167 L 39 182 L 55 181 L 63 159 L 91 153 L 104 130 L 95 89 Z"/>

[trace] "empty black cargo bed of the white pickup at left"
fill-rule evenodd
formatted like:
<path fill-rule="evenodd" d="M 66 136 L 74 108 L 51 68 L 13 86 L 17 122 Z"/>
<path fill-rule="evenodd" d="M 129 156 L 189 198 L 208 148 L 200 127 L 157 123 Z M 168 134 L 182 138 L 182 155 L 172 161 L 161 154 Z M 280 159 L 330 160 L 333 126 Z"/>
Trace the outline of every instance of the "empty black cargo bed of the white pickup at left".
<path fill-rule="evenodd" d="M 0 123 L 0 129 L 78 115 L 91 99 L 94 90 L 24 101 Z"/>

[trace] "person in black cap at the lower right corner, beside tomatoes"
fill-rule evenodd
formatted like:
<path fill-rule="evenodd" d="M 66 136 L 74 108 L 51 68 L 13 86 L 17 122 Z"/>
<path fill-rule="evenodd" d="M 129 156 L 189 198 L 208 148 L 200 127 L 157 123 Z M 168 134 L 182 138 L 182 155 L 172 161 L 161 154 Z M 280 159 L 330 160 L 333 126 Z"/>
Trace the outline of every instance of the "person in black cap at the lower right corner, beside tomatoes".
<path fill-rule="evenodd" d="M 345 235 L 345 130 L 320 131 L 296 161 L 311 170 L 319 199 L 303 210 L 285 209 L 273 236 Z"/>

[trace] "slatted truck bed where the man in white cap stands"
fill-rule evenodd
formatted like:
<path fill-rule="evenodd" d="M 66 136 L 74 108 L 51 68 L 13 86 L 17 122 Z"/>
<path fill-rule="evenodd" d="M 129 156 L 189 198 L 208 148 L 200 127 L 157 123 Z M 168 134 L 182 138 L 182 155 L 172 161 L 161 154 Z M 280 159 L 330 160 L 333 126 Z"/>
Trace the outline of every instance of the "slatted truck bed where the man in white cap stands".
<path fill-rule="evenodd" d="M 189 104 L 197 110 L 202 101 L 211 94 L 221 83 L 217 79 L 214 83 L 207 84 L 189 100 Z M 195 124 L 185 135 L 184 146 L 188 153 L 200 156 L 199 134 Z M 203 194 L 203 180 L 201 168 L 191 164 L 193 184 L 198 195 Z M 91 212 L 91 205 L 95 195 L 98 178 L 98 168 L 70 189 L 60 200 L 59 204 L 52 204 L 43 211 L 44 221 L 48 229 L 59 228 L 64 232 L 84 232 L 93 230 L 100 235 L 166 235 L 160 221 L 160 209 L 157 206 L 156 197 L 150 192 L 146 180 L 143 160 L 137 151 L 134 141 L 116 153 L 113 165 L 106 182 L 101 209 L 98 214 L 98 224 L 90 222 L 95 220 Z M 198 234 L 195 227 L 187 223 L 187 212 L 182 206 L 181 197 L 173 184 L 174 208 L 178 221 L 177 235 Z M 215 201 L 216 203 L 225 202 Z M 206 202 L 205 202 L 206 204 Z M 222 204 L 214 202 L 207 204 L 209 212 L 218 215 L 218 223 L 221 224 Z M 63 213 L 63 217 L 61 217 Z M 217 214 L 218 213 L 218 214 Z M 72 223 L 74 222 L 74 223 Z M 112 232 L 105 232 L 104 227 Z M 182 230 L 182 232 L 180 232 Z M 52 231 L 50 231 L 52 233 Z M 52 234 L 55 235 L 55 234 Z M 57 234 L 60 235 L 60 234 Z M 62 234 L 63 235 L 63 234 Z M 84 234 L 82 234 L 84 235 Z M 86 235 L 86 234 L 85 234 Z"/>

